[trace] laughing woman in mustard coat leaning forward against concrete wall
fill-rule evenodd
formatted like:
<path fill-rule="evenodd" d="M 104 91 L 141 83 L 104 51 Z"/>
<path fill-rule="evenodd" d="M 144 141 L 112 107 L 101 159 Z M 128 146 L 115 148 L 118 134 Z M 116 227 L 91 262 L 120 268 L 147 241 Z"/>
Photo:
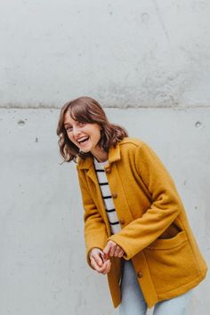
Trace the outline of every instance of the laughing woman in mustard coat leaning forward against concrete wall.
<path fill-rule="evenodd" d="M 57 134 L 62 157 L 77 161 L 87 261 L 108 275 L 114 306 L 183 315 L 207 268 L 165 166 L 90 97 L 63 106 Z"/>

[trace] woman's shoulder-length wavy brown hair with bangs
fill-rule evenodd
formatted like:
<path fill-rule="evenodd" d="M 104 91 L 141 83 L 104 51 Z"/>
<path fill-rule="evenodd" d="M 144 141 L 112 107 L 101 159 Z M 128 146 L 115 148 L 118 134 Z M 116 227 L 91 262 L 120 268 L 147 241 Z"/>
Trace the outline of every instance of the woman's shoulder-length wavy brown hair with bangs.
<path fill-rule="evenodd" d="M 123 127 L 109 123 L 109 120 L 98 101 L 95 101 L 91 97 L 87 96 L 79 97 L 73 101 L 68 101 L 61 108 L 57 127 L 60 152 L 65 162 L 70 162 L 71 160 L 76 161 L 78 156 L 80 158 L 92 156 L 91 152 L 84 153 L 79 151 L 77 146 L 69 140 L 67 131 L 64 127 L 64 116 L 68 110 L 70 112 L 70 116 L 81 123 L 100 125 L 101 139 L 99 141 L 99 146 L 106 152 L 109 151 L 111 146 L 116 146 L 117 142 L 122 141 L 125 137 L 127 137 L 127 132 Z"/>

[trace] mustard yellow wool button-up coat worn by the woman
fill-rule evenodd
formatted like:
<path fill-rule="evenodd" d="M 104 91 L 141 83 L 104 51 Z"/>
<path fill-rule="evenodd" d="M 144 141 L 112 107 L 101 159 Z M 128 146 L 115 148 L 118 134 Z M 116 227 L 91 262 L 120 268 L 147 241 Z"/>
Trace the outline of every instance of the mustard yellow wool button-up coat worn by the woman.
<path fill-rule="evenodd" d="M 93 159 L 79 159 L 77 172 L 85 207 L 85 245 L 101 249 L 112 239 L 132 260 L 149 306 L 181 295 L 206 277 L 206 263 L 190 230 L 171 176 L 143 141 L 125 138 L 109 149 L 105 166 L 122 230 L 111 235 Z M 120 303 L 121 262 L 108 274 L 114 306 Z"/>

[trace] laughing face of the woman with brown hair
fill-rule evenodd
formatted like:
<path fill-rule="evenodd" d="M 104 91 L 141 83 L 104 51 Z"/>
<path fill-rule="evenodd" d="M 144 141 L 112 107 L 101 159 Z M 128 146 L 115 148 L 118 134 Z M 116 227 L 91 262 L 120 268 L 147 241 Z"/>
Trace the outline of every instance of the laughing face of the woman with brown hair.
<path fill-rule="evenodd" d="M 64 127 L 69 140 L 84 152 L 91 152 L 93 156 L 101 150 L 98 143 L 101 139 L 101 129 L 98 124 L 81 123 L 70 117 L 69 110 L 64 115 Z"/>

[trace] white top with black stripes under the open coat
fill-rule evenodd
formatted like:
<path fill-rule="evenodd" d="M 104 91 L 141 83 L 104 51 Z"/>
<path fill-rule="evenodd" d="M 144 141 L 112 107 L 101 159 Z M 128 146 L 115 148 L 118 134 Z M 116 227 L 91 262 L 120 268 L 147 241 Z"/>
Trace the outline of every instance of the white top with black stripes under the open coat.
<path fill-rule="evenodd" d="M 111 197 L 111 192 L 109 190 L 107 175 L 104 170 L 104 166 L 107 163 L 108 161 L 100 163 L 96 158 L 94 158 L 95 172 L 97 174 L 98 182 L 101 188 L 101 196 L 103 198 L 103 203 L 107 212 L 111 233 L 116 234 L 119 230 L 121 230 L 121 227 L 117 218 L 114 202 Z"/>

